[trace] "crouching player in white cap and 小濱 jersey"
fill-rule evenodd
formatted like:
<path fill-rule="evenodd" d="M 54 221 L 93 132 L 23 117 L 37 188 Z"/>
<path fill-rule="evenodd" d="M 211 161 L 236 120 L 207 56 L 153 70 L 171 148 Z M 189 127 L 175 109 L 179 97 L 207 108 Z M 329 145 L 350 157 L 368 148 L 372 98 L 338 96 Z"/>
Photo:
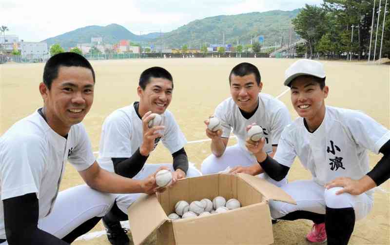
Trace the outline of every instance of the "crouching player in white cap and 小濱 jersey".
<path fill-rule="evenodd" d="M 372 208 L 372 188 L 390 177 L 390 131 L 362 112 L 325 106 L 329 88 L 318 61 L 293 63 L 284 84 L 300 117 L 284 129 L 273 159 L 262 150 L 264 140 L 248 142 L 249 149 L 257 172 L 282 179 L 297 156 L 313 178 L 282 186 L 297 205 L 272 201 L 271 216 L 312 220 L 309 241 L 347 245 L 355 221 Z M 368 150 L 383 154 L 371 171 Z"/>

